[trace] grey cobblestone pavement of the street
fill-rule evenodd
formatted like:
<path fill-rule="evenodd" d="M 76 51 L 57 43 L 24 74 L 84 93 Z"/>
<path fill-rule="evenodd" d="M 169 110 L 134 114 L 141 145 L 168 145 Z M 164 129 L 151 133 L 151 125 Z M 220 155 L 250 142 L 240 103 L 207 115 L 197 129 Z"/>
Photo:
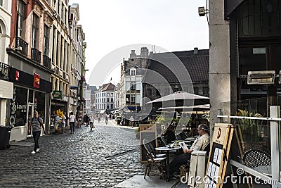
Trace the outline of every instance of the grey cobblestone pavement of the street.
<path fill-rule="evenodd" d="M 1 150 L 0 187 L 112 187 L 143 175 L 136 134 L 121 129 L 100 123 L 93 131 L 82 126 L 74 134 L 46 135 L 36 154 L 33 139 L 22 141 L 32 146 Z"/>

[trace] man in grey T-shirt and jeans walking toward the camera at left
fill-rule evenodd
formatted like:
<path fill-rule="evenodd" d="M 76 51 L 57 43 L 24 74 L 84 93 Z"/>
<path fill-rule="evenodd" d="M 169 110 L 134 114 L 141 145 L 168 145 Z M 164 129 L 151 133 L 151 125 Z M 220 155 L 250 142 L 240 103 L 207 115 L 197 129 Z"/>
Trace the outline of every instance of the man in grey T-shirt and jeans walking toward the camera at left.
<path fill-rule="evenodd" d="M 34 111 L 34 117 L 31 119 L 28 125 L 28 133 L 30 133 L 31 126 L 32 126 L 32 135 L 34 139 L 34 149 L 31 153 L 34 154 L 40 150 L 38 141 L 41 134 L 41 128 L 43 128 L 43 132 L 44 134 L 46 134 L 45 127 L 43 125 L 43 119 L 38 116 L 37 111 Z"/>

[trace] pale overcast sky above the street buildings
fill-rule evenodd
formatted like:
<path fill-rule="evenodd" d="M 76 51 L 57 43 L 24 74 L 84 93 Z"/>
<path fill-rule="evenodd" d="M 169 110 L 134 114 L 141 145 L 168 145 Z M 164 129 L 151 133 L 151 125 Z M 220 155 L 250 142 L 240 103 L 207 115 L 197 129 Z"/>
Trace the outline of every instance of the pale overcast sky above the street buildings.
<path fill-rule="evenodd" d="M 149 44 L 150 50 L 155 45 L 168 51 L 209 49 L 207 18 L 198 15 L 198 7 L 206 7 L 206 1 L 70 0 L 70 5 L 79 4 L 79 24 L 86 34 L 86 81 L 100 84 L 100 77 L 89 80 L 92 70 L 102 58 L 123 46 Z M 130 52 L 122 56 L 128 58 Z M 110 77 L 117 82 L 119 69 L 102 80 L 108 82 Z"/>

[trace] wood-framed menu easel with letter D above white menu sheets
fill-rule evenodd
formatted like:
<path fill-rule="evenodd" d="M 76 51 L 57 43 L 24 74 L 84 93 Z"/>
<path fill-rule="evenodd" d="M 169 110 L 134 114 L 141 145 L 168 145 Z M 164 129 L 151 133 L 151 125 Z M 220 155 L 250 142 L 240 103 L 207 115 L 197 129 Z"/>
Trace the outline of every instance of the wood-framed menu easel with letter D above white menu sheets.
<path fill-rule="evenodd" d="M 226 123 L 216 123 L 214 127 L 204 180 L 205 188 L 223 187 L 233 130 L 234 125 Z"/>

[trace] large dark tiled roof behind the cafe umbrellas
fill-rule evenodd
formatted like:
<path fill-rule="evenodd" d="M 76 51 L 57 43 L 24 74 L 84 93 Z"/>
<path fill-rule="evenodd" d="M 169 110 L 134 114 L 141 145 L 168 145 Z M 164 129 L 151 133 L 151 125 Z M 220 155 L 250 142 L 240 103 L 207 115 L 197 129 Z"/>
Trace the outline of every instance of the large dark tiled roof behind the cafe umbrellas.
<path fill-rule="evenodd" d="M 178 61 L 176 57 L 180 61 Z M 178 63 L 183 63 L 190 75 L 192 82 L 209 81 L 209 49 L 198 50 L 197 54 L 195 54 L 192 50 L 166 52 L 152 55 L 152 60 L 150 60 L 148 69 L 154 70 L 162 75 L 167 82 L 176 83 L 178 82 L 176 73 L 172 73 L 169 68 L 160 62 L 165 62 L 166 65 L 175 68 L 175 70 Z M 178 66 L 178 68 L 181 67 Z M 184 73 L 184 71 L 179 71 L 178 73 Z"/>

